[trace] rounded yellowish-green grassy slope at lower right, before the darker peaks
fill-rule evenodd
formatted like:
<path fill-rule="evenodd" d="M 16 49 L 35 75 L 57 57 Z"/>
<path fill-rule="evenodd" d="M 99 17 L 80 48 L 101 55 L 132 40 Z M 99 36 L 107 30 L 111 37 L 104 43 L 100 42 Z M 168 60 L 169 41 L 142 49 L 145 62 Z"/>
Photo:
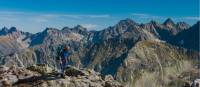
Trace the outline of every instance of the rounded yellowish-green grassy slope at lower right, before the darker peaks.
<path fill-rule="evenodd" d="M 192 81 L 191 79 L 194 80 L 194 77 L 198 76 L 196 73 L 195 76 L 183 81 L 178 78 L 185 72 L 193 73 L 192 70 L 198 72 L 198 69 L 194 68 L 198 64 L 198 56 L 197 52 L 170 44 L 140 41 L 129 50 L 127 57 L 118 68 L 116 78 L 132 87 L 183 86 L 184 82 Z"/>

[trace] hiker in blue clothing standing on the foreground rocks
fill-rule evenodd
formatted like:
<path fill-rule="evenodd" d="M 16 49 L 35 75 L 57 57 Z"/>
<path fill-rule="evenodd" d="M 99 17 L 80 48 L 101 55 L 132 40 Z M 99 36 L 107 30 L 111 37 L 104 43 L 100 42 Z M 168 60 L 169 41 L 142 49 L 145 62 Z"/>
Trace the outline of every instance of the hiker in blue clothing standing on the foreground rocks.
<path fill-rule="evenodd" d="M 65 45 L 60 54 L 60 67 L 61 67 L 61 75 L 64 77 L 64 69 L 67 65 L 69 65 L 69 46 Z"/>

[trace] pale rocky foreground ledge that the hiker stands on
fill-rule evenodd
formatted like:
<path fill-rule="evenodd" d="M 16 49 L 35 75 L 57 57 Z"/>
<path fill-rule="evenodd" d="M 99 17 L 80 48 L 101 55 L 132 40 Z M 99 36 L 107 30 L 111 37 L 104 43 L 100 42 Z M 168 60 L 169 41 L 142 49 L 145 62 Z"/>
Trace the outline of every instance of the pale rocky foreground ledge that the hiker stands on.
<path fill-rule="evenodd" d="M 124 87 L 111 75 L 102 78 L 90 69 L 66 67 L 65 78 L 53 71 L 48 65 L 39 64 L 27 69 L 22 67 L 1 66 L 1 87 Z"/>

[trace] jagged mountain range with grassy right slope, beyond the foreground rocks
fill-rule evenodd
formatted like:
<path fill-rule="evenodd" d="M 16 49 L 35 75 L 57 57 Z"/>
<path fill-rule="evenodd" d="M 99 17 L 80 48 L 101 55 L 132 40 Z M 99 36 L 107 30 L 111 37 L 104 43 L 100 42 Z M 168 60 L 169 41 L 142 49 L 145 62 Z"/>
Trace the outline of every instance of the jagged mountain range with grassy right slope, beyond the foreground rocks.
<path fill-rule="evenodd" d="M 170 18 L 162 24 L 124 19 L 100 31 L 77 25 L 46 28 L 36 34 L 3 28 L 0 34 L 0 63 L 6 66 L 39 63 L 58 68 L 58 52 L 69 45 L 71 65 L 94 69 L 103 76 L 111 74 L 126 86 L 137 87 L 143 82 L 152 87 L 177 87 L 196 76 L 191 71 L 197 71 L 199 22 L 190 27 Z M 183 81 L 185 78 L 190 79 Z"/>

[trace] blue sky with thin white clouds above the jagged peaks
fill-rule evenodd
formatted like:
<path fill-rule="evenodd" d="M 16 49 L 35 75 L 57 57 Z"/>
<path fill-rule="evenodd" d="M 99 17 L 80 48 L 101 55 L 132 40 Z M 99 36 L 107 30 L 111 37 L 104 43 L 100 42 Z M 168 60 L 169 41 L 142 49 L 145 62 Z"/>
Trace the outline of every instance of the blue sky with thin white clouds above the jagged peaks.
<path fill-rule="evenodd" d="M 172 18 L 194 24 L 199 4 L 199 0 L 0 0 L 0 27 L 36 33 L 80 24 L 100 30 L 125 18 L 139 23 Z"/>

